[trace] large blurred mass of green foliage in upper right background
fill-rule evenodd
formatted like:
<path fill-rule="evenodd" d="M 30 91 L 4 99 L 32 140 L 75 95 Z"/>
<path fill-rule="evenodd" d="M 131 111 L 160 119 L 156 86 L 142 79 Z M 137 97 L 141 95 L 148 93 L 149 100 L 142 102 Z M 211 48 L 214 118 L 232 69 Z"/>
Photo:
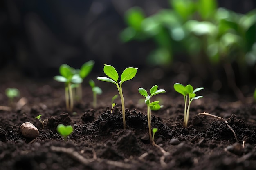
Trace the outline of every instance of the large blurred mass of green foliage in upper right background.
<path fill-rule="evenodd" d="M 210 64 L 235 61 L 243 68 L 256 63 L 256 10 L 235 13 L 218 7 L 216 0 L 169 2 L 170 9 L 148 17 L 139 7 L 125 14 L 128 27 L 120 34 L 123 42 L 153 40 L 156 44 L 149 64 L 170 65 L 174 54 Z"/>

